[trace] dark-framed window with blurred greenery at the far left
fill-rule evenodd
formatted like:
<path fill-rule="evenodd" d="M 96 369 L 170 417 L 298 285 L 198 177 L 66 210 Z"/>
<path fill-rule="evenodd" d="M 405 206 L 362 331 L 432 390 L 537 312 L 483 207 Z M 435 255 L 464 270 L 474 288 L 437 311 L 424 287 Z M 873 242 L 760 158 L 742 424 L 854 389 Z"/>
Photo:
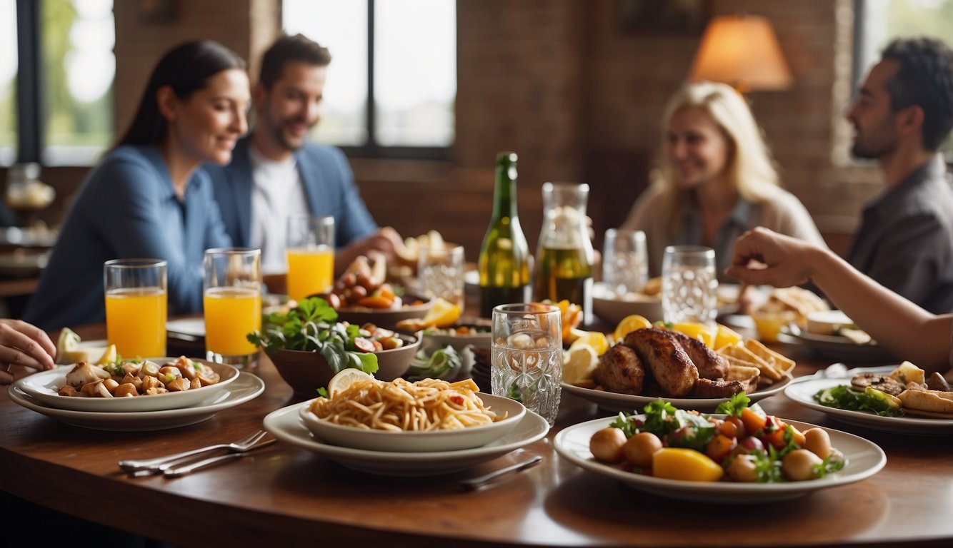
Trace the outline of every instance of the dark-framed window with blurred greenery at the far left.
<path fill-rule="evenodd" d="M 0 0 L 0 10 L 15 22 L 12 74 L 0 61 L 0 165 L 93 165 L 113 139 L 112 0 Z"/>

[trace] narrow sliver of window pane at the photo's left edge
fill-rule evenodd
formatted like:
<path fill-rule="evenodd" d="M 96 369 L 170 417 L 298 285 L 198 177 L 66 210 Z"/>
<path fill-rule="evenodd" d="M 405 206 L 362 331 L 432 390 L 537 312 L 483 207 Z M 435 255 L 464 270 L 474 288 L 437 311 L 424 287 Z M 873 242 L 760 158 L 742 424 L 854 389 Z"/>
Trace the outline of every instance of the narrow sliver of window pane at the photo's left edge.
<path fill-rule="evenodd" d="M 0 0 L 0 166 L 16 160 L 16 0 Z"/>

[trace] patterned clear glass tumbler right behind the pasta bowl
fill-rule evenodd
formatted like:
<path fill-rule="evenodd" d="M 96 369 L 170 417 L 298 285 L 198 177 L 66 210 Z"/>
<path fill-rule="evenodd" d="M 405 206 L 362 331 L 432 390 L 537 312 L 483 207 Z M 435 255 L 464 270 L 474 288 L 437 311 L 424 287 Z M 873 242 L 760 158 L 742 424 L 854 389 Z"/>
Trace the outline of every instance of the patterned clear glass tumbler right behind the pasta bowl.
<path fill-rule="evenodd" d="M 562 322 L 553 304 L 500 304 L 493 309 L 490 384 L 495 396 L 520 401 L 556 423 L 562 383 Z"/>

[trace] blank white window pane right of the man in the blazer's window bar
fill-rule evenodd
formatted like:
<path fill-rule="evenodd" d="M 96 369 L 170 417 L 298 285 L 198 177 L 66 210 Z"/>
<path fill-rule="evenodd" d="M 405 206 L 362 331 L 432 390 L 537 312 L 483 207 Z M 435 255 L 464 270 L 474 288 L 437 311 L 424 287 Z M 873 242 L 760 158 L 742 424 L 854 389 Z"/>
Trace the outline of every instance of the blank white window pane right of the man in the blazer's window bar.
<path fill-rule="evenodd" d="M 375 138 L 389 147 L 454 142 L 456 3 L 375 3 Z"/>

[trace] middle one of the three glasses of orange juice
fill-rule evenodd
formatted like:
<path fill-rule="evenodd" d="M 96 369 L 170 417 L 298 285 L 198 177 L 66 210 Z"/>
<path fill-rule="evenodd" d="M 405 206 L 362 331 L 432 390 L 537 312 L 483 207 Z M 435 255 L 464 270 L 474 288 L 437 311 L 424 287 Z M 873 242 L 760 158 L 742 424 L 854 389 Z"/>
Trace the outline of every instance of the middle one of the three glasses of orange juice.
<path fill-rule="evenodd" d="M 261 330 L 261 249 L 207 249 L 204 267 L 206 359 L 252 369 L 258 349 L 248 334 Z"/>

